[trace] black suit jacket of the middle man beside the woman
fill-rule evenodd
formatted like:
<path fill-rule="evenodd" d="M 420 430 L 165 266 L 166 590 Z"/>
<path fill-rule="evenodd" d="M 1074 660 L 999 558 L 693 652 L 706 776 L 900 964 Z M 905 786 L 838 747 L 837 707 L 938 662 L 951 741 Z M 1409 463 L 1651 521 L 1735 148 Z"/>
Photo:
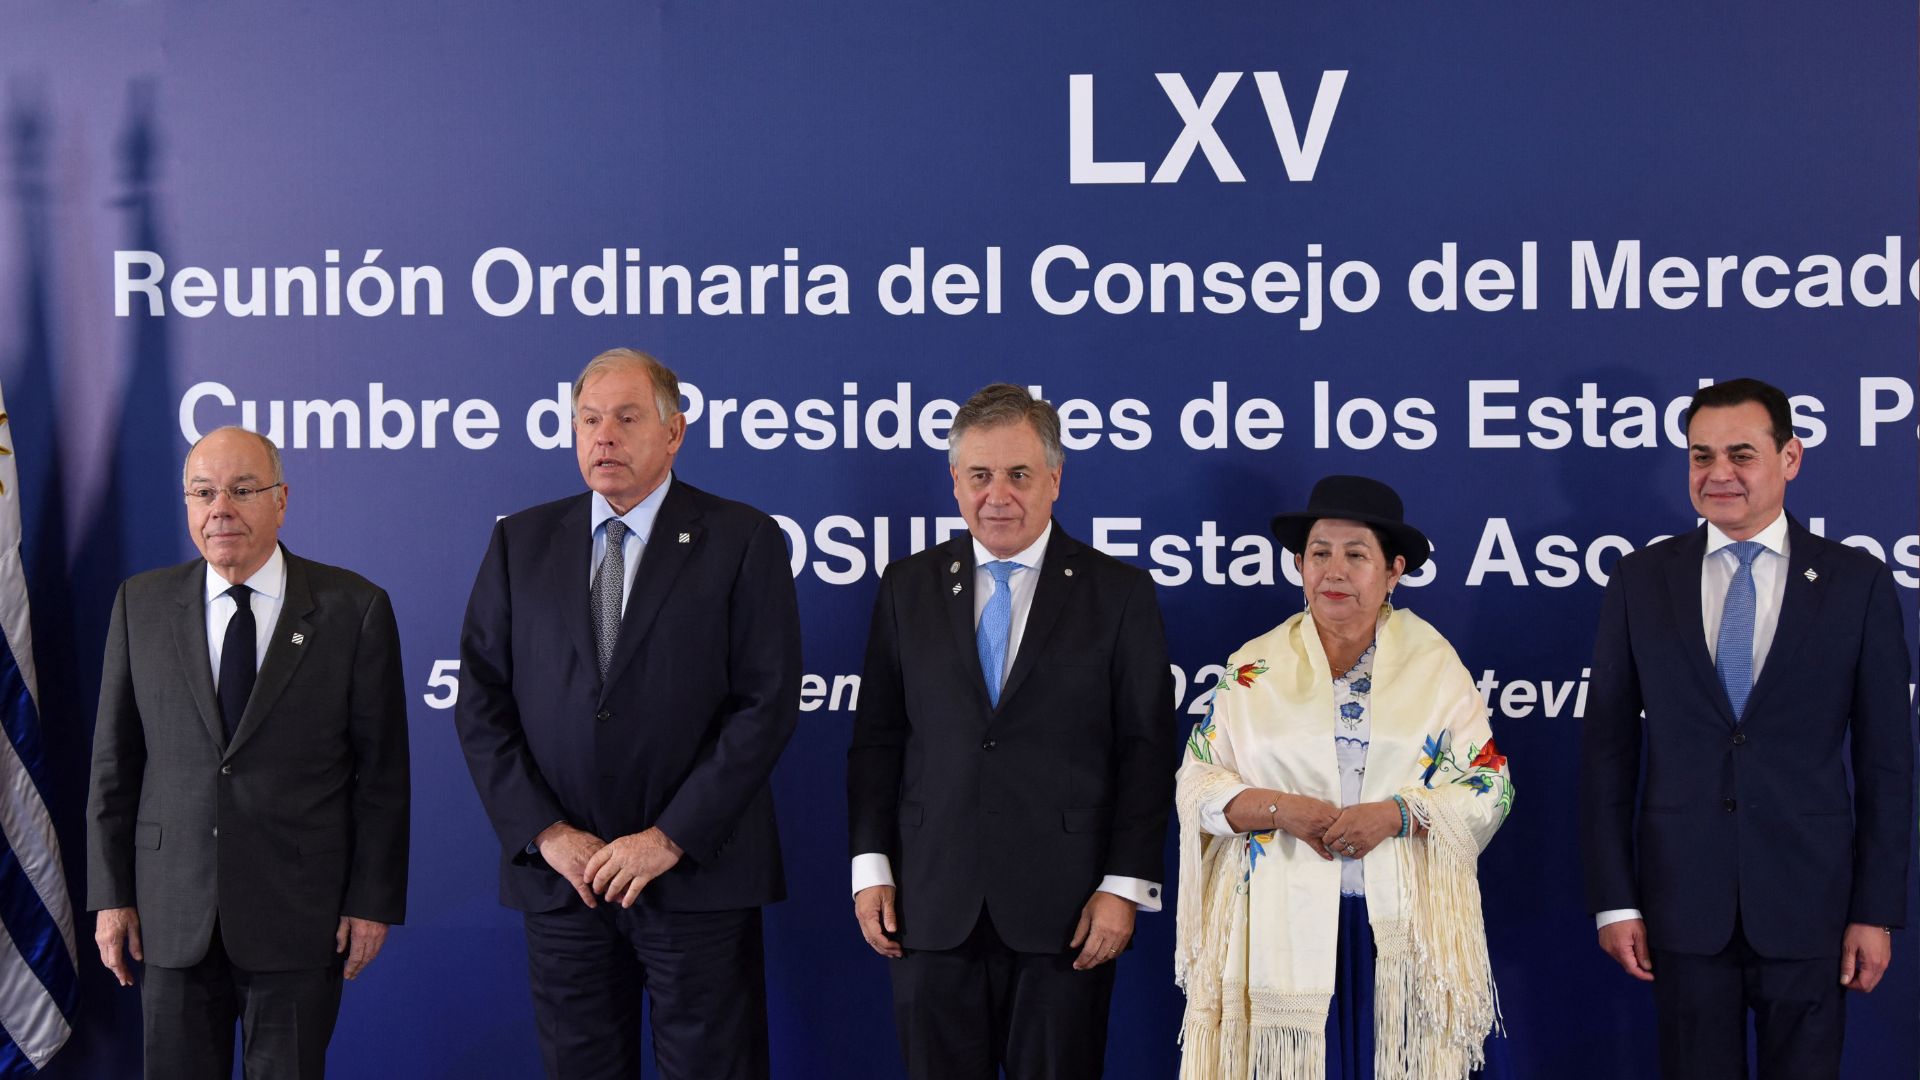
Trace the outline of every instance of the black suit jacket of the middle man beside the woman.
<path fill-rule="evenodd" d="M 960 945 L 987 907 L 1012 949 L 1068 947 L 1100 878 L 1164 880 L 1173 680 L 1154 582 L 1054 525 L 987 703 L 970 534 L 887 567 L 847 753 L 854 855 L 893 859 L 900 942 Z"/>

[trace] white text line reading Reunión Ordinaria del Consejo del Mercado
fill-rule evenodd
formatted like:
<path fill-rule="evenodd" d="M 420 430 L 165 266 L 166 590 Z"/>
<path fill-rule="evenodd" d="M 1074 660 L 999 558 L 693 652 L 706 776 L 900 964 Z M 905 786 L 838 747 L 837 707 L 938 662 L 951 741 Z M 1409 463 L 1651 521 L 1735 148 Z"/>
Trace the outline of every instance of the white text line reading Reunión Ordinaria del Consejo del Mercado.
<path fill-rule="evenodd" d="M 369 248 L 361 265 L 344 271 L 340 252 L 328 248 L 315 267 L 177 267 L 169 273 L 157 252 L 113 252 L 113 313 L 150 317 L 171 313 L 202 319 L 223 311 L 232 317 L 315 317 L 353 313 L 378 317 L 445 313 L 445 282 L 430 265 L 399 267 L 397 279 L 378 265 L 380 248 Z M 1048 315 L 1077 315 L 1089 304 L 1108 315 L 1150 313 L 1233 315 L 1248 307 L 1298 313 L 1302 331 L 1317 331 L 1327 306 L 1344 313 L 1369 311 L 1380 300 L 1380 271 L 1365 259 L 1325 261 L 1321 244 L 1306 244 L 1298 267 L 1267 259 L 1252 267 L 1238 261 L 1094 259 L 1073 244 L 1050 244 L 1033 258 L 1027 288 Z M 1419 311 L 1457 311 L 1461 300 L 1476 311 L 1501 311 L 1515 300 L 1523 311 L 1540 307 L 1540 246 L 1521 244 L 1519 269 L 1482 258 L 1461 271 L 1459 244 L 1442 244 L 1440 258 L 1421 259 L 1407 273 L 1407 300 Z M 1903 271 L 1905 267 L 1905 271 Z M 1738 271 L 1738 284 L 1736 284 Z M 1901 279 L 1905 277 L 1905 290 Z M 271 281 L 271 284 L 269 284 Z M 680 263 L 643 263 L 639 248 L 601 248 L 597 263 L 534 265 L 515 248 L 492 248 L 472 267 L 470 290 L 480 311 L 513 317 L 538 309 L 553 315 L 849 315 L 849 275 L 833 263 L 801 263 L 799 248 L 783 248 L 781 261 L 735 267 L 714 263 L 693 269 Z M 1642 242 L 1620 240 L 1603 256 L 1594 240 L 1569 248 L 1569 306 L 1572 309 L 1638 309 L 1642 298 L 1663 309 L 1695 304 L 1724 307 L 1732 298 L 1751 307 L 1860 307 L 1899 306 L 1901 294 L 1920 298 L 1920 259 L 1907 261 L 1901 236 L 1887 236 L 1882 252 L 1841 263 L 1812 254 L 1788 265 L 1780 256 L 1713 256 L 1703 263 L 1667 256 L 1642 269 Z M 876 279 L 876 302 L 887 315 L 943 315 L 1002 306 L 1002 252 L 985 248 L 979 267 L 966 261 L 927 271 L 925 248 L 910 248 L 906 261 L 891 263 Z M 931 307 L 929 307 L 931 304 Z"/>

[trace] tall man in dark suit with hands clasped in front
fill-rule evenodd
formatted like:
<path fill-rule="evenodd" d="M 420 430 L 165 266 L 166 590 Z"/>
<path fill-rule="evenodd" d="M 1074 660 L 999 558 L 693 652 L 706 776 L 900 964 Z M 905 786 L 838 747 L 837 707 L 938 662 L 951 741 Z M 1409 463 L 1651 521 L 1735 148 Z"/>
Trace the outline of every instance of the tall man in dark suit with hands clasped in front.
<path fill-rule="evenodd" d="M 768 776 L 799 719 L 780 527 L 672 477 L 680 382 L 612 350 L 574 382 L 588 494 L 499 521 L 455 709 L 526 917 L 549 1076 L 764 1078 L 760 905 L 785 896 Z"/>

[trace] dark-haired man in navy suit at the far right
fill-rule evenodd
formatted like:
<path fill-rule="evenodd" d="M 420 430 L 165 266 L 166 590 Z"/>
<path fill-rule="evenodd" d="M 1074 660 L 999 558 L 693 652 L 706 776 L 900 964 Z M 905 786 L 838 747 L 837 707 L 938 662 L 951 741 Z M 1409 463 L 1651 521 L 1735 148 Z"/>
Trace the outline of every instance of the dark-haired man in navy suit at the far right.
<path fill-rule="evenodd" d="M 1601 949 L 1653 982 L 1670 1080 L 1745 1078 L 1749 1009 L 1763 1078 L 1837 1076 L 1845 992 L 1880 982 L 1907 917 L 1901 601 L 1882 561 L 1784 511 L 1786 394 L 1699 390 L 1688 455 L 1707 523 L 1620 559 L 1601 607 L 1588 905 Z"/>

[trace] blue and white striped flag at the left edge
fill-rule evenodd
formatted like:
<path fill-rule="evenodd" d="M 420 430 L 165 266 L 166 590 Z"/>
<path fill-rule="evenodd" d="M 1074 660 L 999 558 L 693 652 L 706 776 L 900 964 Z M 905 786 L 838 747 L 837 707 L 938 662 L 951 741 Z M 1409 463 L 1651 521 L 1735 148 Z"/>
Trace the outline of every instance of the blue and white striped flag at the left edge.
<path fill-rule="evenodd" d="M 73 903 L 46 813 L 19 467 L 0 398 L 0 1076 L 33 1076 L 73 1034 Z"/>

